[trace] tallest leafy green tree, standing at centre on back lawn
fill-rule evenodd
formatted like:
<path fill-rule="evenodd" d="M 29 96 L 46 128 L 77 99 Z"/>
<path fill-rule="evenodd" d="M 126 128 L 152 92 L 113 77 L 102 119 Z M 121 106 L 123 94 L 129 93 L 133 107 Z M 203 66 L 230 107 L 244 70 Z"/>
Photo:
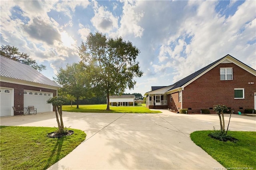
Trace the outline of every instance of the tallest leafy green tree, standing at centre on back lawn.
<path fill-rule="evenodd" d="M 121 95 L 126 88 L 133 89 L 134 77 L 142 76 L 136 61 L 139 53 L 130 41 L 122 37 L 107 38 L 99 32 L 90 33 L 80 45 L 78 54 L 90 75 L 94 93 L 107 96 L 106 110 L 110 110 L 109 95 Z"/>

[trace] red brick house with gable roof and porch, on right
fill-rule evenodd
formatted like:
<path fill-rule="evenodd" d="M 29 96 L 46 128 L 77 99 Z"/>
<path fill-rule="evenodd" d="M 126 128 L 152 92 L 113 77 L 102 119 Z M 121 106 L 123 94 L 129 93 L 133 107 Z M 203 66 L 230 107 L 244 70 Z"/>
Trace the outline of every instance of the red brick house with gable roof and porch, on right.
<path fill-rule="evenodd" d="M 256 70 L 226 55 L 169 86 L 153 86 L 145 93 L 146 107 L 188 109 L 200 113 L 214 105 L 237 111 L 256 109 Z"/>

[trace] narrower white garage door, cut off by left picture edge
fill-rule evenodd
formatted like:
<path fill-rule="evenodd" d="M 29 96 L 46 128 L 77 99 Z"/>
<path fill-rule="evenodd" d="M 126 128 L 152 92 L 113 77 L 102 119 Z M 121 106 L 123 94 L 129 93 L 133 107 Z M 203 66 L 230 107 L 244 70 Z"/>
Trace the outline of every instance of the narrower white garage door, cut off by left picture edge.
<path fill-rule="evenodd" d="M 12 106 L 14 105 L 13 89 L 0 89 L 0 116 L 13 115 Z"/>

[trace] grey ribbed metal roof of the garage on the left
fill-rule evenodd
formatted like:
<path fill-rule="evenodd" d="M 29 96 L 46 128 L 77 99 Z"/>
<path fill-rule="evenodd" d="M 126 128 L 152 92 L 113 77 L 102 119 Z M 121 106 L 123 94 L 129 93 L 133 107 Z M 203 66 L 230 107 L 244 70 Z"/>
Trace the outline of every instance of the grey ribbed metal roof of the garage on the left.
<path fill-rule="evenodd" d="M 0 76 L 60 87 L 29 65 L 19 63 L 2 55 L 0 55 Z"/>

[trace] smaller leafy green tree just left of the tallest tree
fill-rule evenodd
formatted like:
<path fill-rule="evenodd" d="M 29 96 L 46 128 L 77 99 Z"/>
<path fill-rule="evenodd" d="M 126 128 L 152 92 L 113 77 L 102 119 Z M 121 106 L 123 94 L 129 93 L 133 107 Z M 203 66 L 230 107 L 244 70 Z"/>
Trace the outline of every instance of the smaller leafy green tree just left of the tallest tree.
<path fill-rule="evenodd" d="M 54 79 L 62 86 L 62 91 L 76 97 L 76 108 L 79 108 L 78 100 L 83 97 L 90 98 L 90 81 L 82 62 L 66 65 L 60 68 Z"/>

